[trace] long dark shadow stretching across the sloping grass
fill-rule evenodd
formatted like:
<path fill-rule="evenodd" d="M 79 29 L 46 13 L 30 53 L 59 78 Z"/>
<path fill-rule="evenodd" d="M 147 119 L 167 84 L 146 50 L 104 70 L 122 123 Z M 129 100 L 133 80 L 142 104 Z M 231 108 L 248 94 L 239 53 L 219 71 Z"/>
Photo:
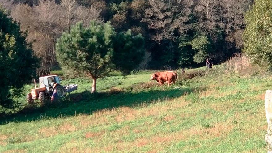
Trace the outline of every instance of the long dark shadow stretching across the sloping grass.
<path fill-rule="evenodd" d="M 24 122 L 41 120 L 45 118 L 69 117 L 76 114 L 92 114 L 101 109 L 113 109 L 120 106 L 138 107 L 141 104 L 156 103 L 158 100 L 177 98 L 185 93 L 191 93 L 203 89 L 181 88 L 181 89 L 153 89 L 137 93 L 120 92 L 111 94 L 108 92 L 91 94 L 85 91 L 77 94 L 70 94 L 59 100 L 58 103 L 47 104 L 41 108 L 29 108 L 21 113 L 7 116 L 0 119 L 0 124 L 8 122 Z"/>

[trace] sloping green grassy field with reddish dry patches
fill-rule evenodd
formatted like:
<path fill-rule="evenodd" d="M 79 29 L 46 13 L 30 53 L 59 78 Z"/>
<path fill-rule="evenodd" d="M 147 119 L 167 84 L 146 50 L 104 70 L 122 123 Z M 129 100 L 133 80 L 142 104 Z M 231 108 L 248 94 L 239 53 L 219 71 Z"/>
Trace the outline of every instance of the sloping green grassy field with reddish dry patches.
<path fill-rule="evenodd" d="M 219 74 L 215 67 L 159 87 L 151 72 L 99 79 L 96 94 L 90 79 L 64 80 L 79 88 L 60 103 L 23 103 L 25 113 L 1 119 L 0 152 L 266 152 L 269 76 Z"/>

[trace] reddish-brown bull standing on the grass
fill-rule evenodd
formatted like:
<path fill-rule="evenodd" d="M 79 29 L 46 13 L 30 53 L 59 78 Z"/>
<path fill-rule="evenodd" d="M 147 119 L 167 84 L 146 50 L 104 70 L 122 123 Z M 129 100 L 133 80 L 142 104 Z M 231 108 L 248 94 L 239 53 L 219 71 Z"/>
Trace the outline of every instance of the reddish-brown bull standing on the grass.
<path fill-rule="evenodd" d="M 175 83 L 177 79 L 176 71 L 156 72 L 152 74 L 150 80 L 156 80 L 160 85 L 168 82 L 168 86 Z"/>

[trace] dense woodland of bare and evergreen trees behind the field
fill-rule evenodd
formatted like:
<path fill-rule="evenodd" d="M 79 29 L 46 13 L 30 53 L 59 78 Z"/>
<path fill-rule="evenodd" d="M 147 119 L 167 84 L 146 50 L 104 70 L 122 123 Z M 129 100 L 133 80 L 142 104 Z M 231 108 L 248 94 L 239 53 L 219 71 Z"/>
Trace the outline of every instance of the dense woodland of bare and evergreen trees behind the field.
<path fill-rule="evenodd" d="M 27 40 L 41 58 L 39 75 L 57 66 L 55 43 L 78 21 L 110 21 L 117 32 L 131 29 L 145 39 L 140 68 L 222 62 L 243 47 L 244 14 L 253 0 L 0 0 L 28 31 Z"/>

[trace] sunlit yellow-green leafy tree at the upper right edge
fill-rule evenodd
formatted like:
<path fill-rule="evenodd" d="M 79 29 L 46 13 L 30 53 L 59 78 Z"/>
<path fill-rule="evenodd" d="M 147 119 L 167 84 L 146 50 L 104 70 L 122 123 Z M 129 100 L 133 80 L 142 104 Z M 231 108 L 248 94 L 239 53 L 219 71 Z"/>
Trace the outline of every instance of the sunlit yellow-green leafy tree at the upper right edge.
<path fill-rule="evenodd" d="M 253 62 L 266 62 L 272 68 L 272 1 L 256 0 L 245 15 L 243 52 Z"/>

